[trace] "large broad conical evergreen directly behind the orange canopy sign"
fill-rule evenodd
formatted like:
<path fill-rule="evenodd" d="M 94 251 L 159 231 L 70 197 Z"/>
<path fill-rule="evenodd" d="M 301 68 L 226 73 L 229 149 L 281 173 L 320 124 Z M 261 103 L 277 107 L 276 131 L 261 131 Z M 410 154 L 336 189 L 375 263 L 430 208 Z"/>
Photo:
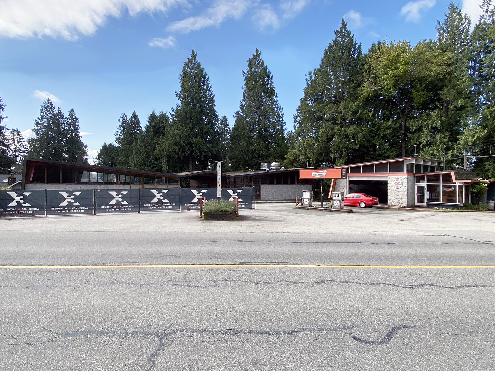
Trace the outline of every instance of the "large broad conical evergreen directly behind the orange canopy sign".
<path fill-rule="evenodd" d="M 307 164 L 307 160 L 320 166 L 343 165 L 363 160 L 366 152 L 366 121 L 360 119 L 358 106 L 363 80 L 361 45 L 344 20 L 334 34 L 320 66 L 308 74 L 294 116 L 297 139 L 290 157 L 295 165 Z"/>

